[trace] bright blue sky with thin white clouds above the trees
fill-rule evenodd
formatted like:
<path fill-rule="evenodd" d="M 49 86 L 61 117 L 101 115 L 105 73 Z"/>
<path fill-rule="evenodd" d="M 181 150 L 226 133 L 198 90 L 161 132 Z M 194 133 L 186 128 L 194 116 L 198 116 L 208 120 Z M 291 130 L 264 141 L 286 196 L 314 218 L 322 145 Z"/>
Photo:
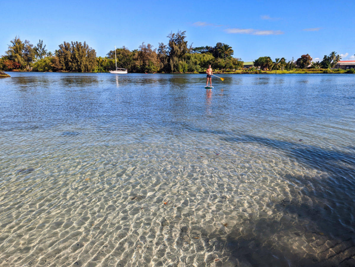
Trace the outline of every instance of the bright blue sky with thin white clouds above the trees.
<path fill-rule="evenodd" d="M 193 46 L 233 47 L 244 61 L 260 56 L 322 59 L 331 51 L 354 59 L 355 1 L 4 1 L 0 54 L 15 35 L 49 51 L 63 41 L 86 41 L 98 56 L 114 45 L 137 49 L 167 43 L 186 30 Z M 352 22 L 350 22 L 352 20 Z"/>

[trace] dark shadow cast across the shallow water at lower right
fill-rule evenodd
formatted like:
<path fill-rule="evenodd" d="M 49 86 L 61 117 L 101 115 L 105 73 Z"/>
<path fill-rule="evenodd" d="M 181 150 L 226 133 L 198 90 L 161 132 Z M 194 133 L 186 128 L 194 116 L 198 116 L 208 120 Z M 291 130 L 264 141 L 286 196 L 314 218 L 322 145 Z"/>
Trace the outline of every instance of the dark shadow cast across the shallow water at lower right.
<path fill-rule="evenodd" d="M 186 125 L 185 125 L 186 127 Z M 355 151 L 326 150 L 304 143 L 292 143 L 253 135 L 187 127 L 193 132 L 221 135 L 221 140 L 257 143 L 322 172 L 321 178 L 300 178 L 280 173 L 291 183 L 297 181 L 301 201 L 282 200 L 273 206 L 281 219 L 246 219 L 216 238 L 214 251 L 228 258 L 219 266 L 355 266 Z M 237 135 L 237 136 L 236 136 Z M 308 191 L 311 184 L 314 190 Z M 294 219 L 294 223 L 290 222 Z M 303 223 L 298 223 L 302 221 Z M 241 229 L 249 229 L 245 234 Z M 225 231 L 226 233 L 227 231 Z M 284 233 L 282 233 L 284 232 Z M 210 237 L 209 237 L 210 238 Z M 282 240 L 280 240 L 282 239 Z"/>

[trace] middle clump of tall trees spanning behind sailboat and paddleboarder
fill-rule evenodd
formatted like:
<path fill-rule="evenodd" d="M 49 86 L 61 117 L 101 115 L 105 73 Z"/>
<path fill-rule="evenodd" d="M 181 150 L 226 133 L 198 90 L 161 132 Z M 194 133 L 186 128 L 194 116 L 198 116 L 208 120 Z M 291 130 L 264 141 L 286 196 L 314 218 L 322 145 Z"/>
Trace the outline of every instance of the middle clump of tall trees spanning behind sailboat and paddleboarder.
<path fill-rule="evenodd" d="M 208 65 L 222 71 L 243 68 L 243 61 L 231 57 L 234 51 L 227 44 L 217 43 L 214 47 L 192 48 L 187 44 L 185 32 L 171 32 L 167 37 L 168 44 L 159 43 L 158 49 L 144 43 L 138 50 L 130 51 L 124 46 L 116 49 L 118 67 L 127 68 L 130 72 L 180 73 L 203 71 Z M 115 51 L 108 52 L 107 59 L 105 58 L 103 60 L 100 58 L 95 71 L 115 68 Z"/>

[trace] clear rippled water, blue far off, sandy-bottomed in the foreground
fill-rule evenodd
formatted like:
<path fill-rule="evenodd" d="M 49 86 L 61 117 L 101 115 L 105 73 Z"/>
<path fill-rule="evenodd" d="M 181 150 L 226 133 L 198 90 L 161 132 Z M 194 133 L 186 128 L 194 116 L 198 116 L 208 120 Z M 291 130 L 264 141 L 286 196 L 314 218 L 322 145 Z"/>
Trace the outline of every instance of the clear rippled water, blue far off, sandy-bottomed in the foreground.
<path fill-rule="evenodd" d="M 355 265 L 355 75 L 10 74 L 1 267 Z"/>

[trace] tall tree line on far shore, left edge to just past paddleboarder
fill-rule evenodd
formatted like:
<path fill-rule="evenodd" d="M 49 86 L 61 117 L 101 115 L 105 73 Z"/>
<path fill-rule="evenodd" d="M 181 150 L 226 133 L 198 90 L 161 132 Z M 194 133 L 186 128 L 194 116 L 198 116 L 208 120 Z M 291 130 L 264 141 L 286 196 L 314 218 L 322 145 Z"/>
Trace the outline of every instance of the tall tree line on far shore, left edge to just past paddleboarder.
<path fill-rule="evenodd" d="M 117 65 L 129 72 L 195 72 L 203 71 L 211 65 L 213 69 L 241 69 L 243 61 L 232 57 L 231 46 L 217 43 L 215 46 L 193 48 L 188 45 L 186 32 L 171 32 L 166 44 L 158 48 L 144 42 L 138 49 L 129 50 L 125 46 L 116 49 Z M 97 57 L 95 49 L 84 42 L 63 42 L 54 52 L 48 51 L 43 40 L 36 45 L 15 37 L 8 50 L 0 58 L 0 69 L 31 71 L 73 71 L 107 72 L 115 69 L 115 50 L 105 57 Z"/>

